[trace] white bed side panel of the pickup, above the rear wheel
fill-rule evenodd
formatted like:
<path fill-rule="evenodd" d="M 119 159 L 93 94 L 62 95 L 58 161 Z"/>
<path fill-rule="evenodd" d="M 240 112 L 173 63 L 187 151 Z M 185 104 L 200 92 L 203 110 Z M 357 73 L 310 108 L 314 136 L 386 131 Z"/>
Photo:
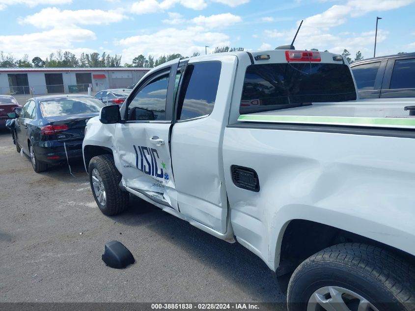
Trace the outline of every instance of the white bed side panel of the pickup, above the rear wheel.
<path fill-rule="evenodd" d="M 242 128 L 224 137 L 224 166 L 253 168 L 261 187 L 250 193 L 225 175 L 235 235 L 271 269 L 294 219 L 415 254 L 413 139 Z"/>

